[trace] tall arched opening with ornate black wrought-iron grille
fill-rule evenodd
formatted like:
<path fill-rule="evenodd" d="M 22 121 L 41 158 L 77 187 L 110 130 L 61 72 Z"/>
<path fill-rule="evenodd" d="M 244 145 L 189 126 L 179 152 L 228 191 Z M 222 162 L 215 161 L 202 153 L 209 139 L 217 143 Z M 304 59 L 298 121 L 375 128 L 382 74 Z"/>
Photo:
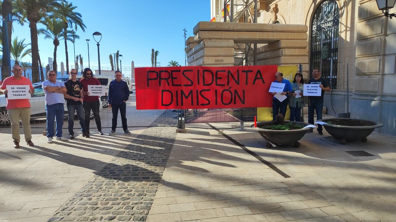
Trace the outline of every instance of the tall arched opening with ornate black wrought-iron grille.
<path fill-rule="evenodd" d="M 337 88 L 340 11 L 335 0 L 325 0 L 316 8 L 311 24 L 310 77 L 312 69 L 322 70 L 331 88 Z"/>

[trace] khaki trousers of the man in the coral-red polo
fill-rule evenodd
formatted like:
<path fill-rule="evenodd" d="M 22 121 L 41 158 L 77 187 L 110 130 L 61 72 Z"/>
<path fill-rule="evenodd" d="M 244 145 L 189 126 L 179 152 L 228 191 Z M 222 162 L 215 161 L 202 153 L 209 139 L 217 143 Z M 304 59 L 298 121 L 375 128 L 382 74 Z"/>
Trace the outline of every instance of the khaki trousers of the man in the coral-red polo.
<path fill-rule="evenodd" d="M 19 136 L 19 120 L 23 125 L 23 134 L 25 134 L 25 141 L 32 139 L 30 133 L 30 107 L 26 108 L 15 108 L 8 110 L 8 116 L 11 121 L 11 133 L 14 141 L 20 142 L 21 137 Z"/>

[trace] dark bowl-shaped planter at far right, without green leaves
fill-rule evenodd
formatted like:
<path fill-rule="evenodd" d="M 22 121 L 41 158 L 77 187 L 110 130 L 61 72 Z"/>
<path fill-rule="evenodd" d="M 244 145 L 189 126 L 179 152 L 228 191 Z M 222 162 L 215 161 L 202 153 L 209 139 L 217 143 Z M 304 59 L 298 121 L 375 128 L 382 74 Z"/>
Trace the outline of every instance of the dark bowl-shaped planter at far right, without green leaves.
<path fill-rule="evenodd" d="M 341 144 L 346 142 L 352 142 L 361 140 L 362 142 L 367 141 L 367 136 L 369 136 L 375 128 L 382 127 L 384 124 L 377 123 L 369 120 L 362 119 L 350 119 L 350 118 L 335 118 L 335 119 L 322 119 L 322 122 L 332 121 L 332 120 L 360 120 L 367 122 L 367 126 L 341 126 L 333 124 L 324 124 L 323 127 L 326 131 L 332 135 L 335 139 L 339 139 Z"/>

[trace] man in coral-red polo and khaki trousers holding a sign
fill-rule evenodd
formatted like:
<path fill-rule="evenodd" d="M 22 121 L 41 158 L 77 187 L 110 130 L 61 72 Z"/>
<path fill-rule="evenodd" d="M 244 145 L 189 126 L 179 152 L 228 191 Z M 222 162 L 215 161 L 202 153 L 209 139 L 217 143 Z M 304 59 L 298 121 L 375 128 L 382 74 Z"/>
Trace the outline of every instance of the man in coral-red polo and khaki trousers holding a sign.
<path fill-rule="evenodd" d="M 34 88 L 30 79 L 22 76 L 22 68 L 19 65 L 14 65 L 11 72 L 14 75 L 4 79 L 0 93 L 7 95 L 7 85 L 29 85 L 29 93 L 33 94 Z M 11 134 L 14 140 L 14 148 L 19 148 L 19 141 L 21 139 L 19 135 L 19 120 L 23 125 L 23 134 L 25 135 L 25 141 L 27 145 L 34 146 L 32 143 L 32 134 L 30 133 L 30 102 L 29 99 L 15 99 L 9 100 L 7 98 L 7 110 L 8 116 L 11 122 Z"/>

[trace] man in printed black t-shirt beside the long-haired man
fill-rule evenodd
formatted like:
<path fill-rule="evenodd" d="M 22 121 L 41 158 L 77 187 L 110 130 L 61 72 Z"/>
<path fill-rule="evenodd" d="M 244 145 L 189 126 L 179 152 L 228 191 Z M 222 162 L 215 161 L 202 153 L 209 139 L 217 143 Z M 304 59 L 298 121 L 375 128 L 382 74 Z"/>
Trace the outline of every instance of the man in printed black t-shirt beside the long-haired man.
<path fill-rule="evenodd" d="M 67 113 L 69 114 L 69 139 L 74 139 L 74 112 L 77 112 L 78 120 L 80 121 L 81 131 L 83 137 L 89 137 L 86 132 L 86 126 L 84 121 L 84 109 L 82 107 L 82 84 L 77 81 L 77 70 L 70 70 L 70 79 L 66 81 L 65 87 L 67 92 L 63 95 L 66 99 Z"/>

